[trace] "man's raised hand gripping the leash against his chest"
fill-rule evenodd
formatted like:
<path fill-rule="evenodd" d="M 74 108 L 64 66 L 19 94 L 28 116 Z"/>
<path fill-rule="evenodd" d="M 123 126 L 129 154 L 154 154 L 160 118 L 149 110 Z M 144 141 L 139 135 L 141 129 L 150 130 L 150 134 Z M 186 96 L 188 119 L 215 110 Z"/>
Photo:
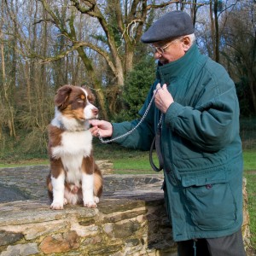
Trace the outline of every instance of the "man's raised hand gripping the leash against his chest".
<path fill-rule="evenodd" d="M 166 113 L 173 102 L 172 95 L 167 90 L 167 85 L 163 84 L 161 88 L 160 84 L 157 84 L 154 90 L 154 103 L 156 108 L 159 108 L 162 113 Z"/>

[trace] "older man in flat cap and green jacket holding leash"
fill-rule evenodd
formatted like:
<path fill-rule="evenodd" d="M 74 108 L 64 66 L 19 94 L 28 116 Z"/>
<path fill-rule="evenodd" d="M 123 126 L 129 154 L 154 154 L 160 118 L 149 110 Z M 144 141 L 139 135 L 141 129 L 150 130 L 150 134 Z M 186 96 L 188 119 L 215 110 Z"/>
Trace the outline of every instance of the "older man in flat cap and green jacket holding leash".
<path fill-rule="evenodd" d="M 235 85 L 224 67 L 200 54 L 192 20 L 182 11 L 162 16 L 142 41 L 154 47 L 159 63 L 140 115 L 152 97 L 154 104 L 117 143 L 148 150 L 160 123 L 166 208 L 178 255 L 245 255 Z M 118 137 L 138 122 L 91 120 L 91 132 Z"/>

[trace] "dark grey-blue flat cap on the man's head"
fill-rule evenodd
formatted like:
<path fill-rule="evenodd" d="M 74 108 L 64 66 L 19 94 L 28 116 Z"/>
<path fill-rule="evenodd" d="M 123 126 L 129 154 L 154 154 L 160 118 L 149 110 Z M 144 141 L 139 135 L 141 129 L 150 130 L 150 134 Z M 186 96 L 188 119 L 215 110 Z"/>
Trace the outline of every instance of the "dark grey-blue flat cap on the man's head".
<path fill-rule="evenodd" d="M 193 34 L 195 28 L 191 17 L 183 11 L 173 11 L 156 20 L 141 38 L 145 44 L 152 44 L 170 38 Z"/>

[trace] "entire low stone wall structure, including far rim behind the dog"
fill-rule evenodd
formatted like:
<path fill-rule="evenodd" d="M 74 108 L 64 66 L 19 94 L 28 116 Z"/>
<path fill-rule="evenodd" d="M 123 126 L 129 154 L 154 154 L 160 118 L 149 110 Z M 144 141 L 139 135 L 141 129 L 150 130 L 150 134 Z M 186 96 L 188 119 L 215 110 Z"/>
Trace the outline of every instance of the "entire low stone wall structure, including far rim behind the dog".
<path fill-rule="evenodd" d="M 48 172 L 48 166 L 0 169 L 3 191 L 22 196 L 20 201 L 2 197 L 0 256 L 177 255 L 161 175 L 106 175 L 98 208 L 52 211 L 45 187 Z M 246 208 L 244 214 L 248 217 Z M 243 230 L 247 243 L 248 218 Z"/>

